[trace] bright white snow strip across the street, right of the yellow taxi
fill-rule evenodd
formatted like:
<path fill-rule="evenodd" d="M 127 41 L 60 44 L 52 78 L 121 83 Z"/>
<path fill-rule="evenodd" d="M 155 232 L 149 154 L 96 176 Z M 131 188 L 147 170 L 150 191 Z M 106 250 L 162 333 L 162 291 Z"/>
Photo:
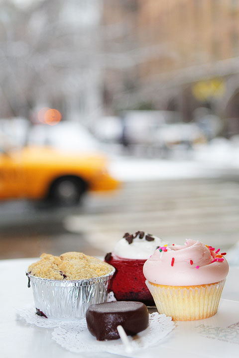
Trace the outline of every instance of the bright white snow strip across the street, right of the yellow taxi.
<path fill-rule="evenodd" d="M 227 173 L 239 174 L 239 137 L 231 141 L 216 138 L 209 144 L 198 145 L 190 153 L 190 159 L 185 160 L 112 157 L 110 173 L 121 181 L 217 178 Z"/>

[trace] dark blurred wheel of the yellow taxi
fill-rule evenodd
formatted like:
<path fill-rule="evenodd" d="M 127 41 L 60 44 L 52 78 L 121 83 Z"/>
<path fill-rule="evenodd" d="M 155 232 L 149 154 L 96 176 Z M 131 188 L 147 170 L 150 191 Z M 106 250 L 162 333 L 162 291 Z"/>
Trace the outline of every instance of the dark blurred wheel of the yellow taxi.
<path fill-rule="evenodd" d="M 65 177 L 55 180 L 50 188 L 49 199 L 59 206 L 72 206 L 80 202 L 86 185 L 81 179 Z"/>

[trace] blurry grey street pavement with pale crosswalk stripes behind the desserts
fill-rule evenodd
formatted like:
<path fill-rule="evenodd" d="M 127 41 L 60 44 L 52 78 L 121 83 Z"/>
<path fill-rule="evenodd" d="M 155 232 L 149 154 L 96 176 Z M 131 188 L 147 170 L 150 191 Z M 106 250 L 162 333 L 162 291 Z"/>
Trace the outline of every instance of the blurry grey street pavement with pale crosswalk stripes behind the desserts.
<path fill-rule="evenodd" d="M 239 240 L 239 179 L 127 181 L 114 194 L 53 209 L 0 204 L 0 259 L 82 251 L 105 255 L 124 232 L 144 230 L 169 243 L 199 239 L 227 251 Z"/>

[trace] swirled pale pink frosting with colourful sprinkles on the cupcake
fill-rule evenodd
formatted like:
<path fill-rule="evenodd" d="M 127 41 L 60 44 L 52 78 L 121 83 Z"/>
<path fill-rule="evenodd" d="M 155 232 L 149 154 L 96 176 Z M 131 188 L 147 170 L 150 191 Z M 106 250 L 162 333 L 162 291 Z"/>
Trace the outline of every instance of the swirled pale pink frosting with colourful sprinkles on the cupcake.
<path fill-rule="evenodd" d="M 228 274 L 227 260 L 215 261 L 215 251 L 200 241 L 188 240 L 185 245 L 171 245 L 166 249 L 166 252 L 157 249 L 143 266 L 145 278 L 152 283 L 201 285 L 219 282 Z"/>

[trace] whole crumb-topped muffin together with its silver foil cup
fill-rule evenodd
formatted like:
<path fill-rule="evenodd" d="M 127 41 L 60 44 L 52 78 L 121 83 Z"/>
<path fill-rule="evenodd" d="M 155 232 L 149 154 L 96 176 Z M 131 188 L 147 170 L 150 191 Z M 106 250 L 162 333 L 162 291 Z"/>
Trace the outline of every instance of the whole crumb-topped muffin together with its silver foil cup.
<path fill-rule="evenodd" d="M 42 254 L 26 272 L 36 314 L 56 320 L 84 318 L 91 304 L 106 302 L 114 273 L 113 266 L 83 253 Z"/>

